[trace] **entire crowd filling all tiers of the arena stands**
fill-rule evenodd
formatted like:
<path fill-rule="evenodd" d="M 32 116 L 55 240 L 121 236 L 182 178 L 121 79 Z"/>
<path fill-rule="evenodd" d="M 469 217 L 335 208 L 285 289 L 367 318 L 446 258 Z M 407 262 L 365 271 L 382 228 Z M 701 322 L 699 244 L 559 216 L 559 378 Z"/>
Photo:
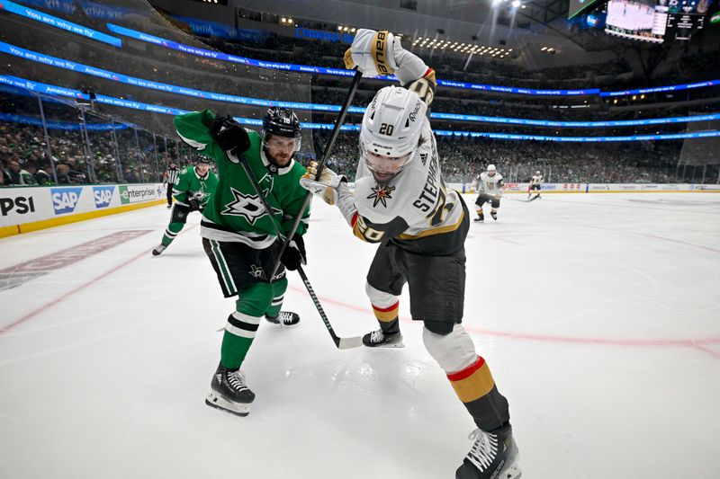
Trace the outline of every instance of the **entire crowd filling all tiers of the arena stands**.
<path fill-rule="evenodd" d="M 85 22 L 88 19 L 81 18 L 81 20 Z M 29 25 L 31 26 L 27 31 L 0 29 L 0 40 L 59 58 L 71 58 L 94 67 L 104 67 L 125 75 L 206 91 L 271 100 L 336 105 L 342 103 L 347 94 L 346 80 L 316 76 L 312 82 L 310 79 L 297 82 L 297 77 L 288 76 L 284 72 L 235 66 L 158 46 L 139 44 L 139 42 L 127 42 L 123 49 L 114 49 L 94 40 L 75 36 L 69 37 L 67 41 L 60 41 L 58 39 L 68 39 L 67 33 L 55 29 L 51 30 L 51 36 L 35 34 L 46 27 L 40 26 L 37 22 L 31 22 Z M 103 22 L 97 22 L 94 26 L 102 30 Z M 129 24 L 129 26 L 133 25 Z M 31 34 L 32 32 L 34 33 Z M 155 33 L 160 34 L 158 31 Z M 214 44 L 229 53 L 243 57 L 327 67 L 341 67 L 341 58 L 347 49 L 347 44 L 298 40 L 277 35 L 266 36 L 266 40 L 262 43 L 215 42 Z M 109 49 L 112 49 L 112 55 L 108 55 Z M 146 54 L 140 54 L 141 51 Z M 418 53 L 422 57 L 427 51 L 418 50 Z M 664 79 L 653 79 L 644 83 L 634 81 L 633 87 L 648 86 L 653 82 L 667 84 L 669 79 L 682 83 L 713 78 L 716 75 L 714 71 L 717 65 L 716 58 L 716 51 L 688 56 L 683 58 L 677 67 L 671 69 L 669 76 L 663 77 Z M 532 88 L 585 88 L 593 86 L 591 83 L 596 74 L 617 76 L 630 69 L 622 61 L 612 61 L 604 65 L 547 68 L 528 73 L 509 61 L 486 62 L 473 59 L 466 62 L 464 58 L 437 54 L 432 59 L 426 58 L 426 60 L 436 67 L 440 78 Z M 27 75 L 38 81 L 63 84 L 72 88 L 79 88 L 83 84 L 93 87 L 97 93 L 141 102 L 166 104 L 186 110 L 200 110 L 211 106 L 213 110 L 223 112 L 220 110 L 223 104 L 207 102 L 203 98 L 180 97 L 172 93 L 119 84 L 18 58 L 12 58 L 12 61 L 16 71 L 10 73 Z M 276 88 L 268 88 L 270 84 L 275 85 Z M 377 82 L 363 82 L 356 94 L 354 104 L 365 107 L 371 101 L 378 85 Z M 620 88 L 623 86 L 618 85 Z M 609 104 L 598 97 L 590 100 L 582 98 L 559 100 L 557 97 L 518 97 L 501 94 L 480 96 L 476 92 L 441 87 L 438 88 L 433 111 L 536 120 L 630 120 L 685 116 L 691 113 L 717 111 L 714 102 L 690 105 L 689 100 L 708 96 L 720 97 L 718 89 L 720 87 L 687 91 L 680 93 L 674 100 L 668 100 L 680 102 L 672 108 L 649 107 L 641 110 L 633 108 L 633 103 L 628 97 L 621 98 L 619 103 Z M 649 95 L 647 100 L 639 99 L 638 102 L 651 102 L 657 98 Z M 563 102 L 562 106 L 568 108 L 557 108 L 561 102 Z M 35 97 L 23 99 L 22 95 L 0 93 L 0 113 L 38 118 L 36 103 Z M 569 108 L 571 106 L 578 108 Z M 242 108 L 247 108 L 247 111 L 252 108 L 254 118 L 262 116 L 262 108 Z M 117 111 L 119 114 L 123 113 L 120 107 L 117 107 Z M 241 110 L 238 108 L 237 111 Z M 143 125 L 143 119 L 137 111 L 126 111 L 126 113 L 128 120 Z M 238 114 L 235 111 L 233 113 Z M 334 115 L 335 113 L 313 114 L 312 120 L 332 120 Z M 57 104 L 45 102 L 45 116 L 56 121 L 78 124 L 76 108 L 61 102 Z M 250 116 L 249 112 L 247 116 Z M 167 115 L 156 114 L 153 117 L 146 115 L 145 118 L 152 118 L 156 127 L 162 123 L 166 131 L 172 131 L 171 117 Z M 357 116 L 353 118 L 358 119 Z M 434 123 L 434 127 L 514 131 L 514 127 L 467 122 L 463 124 L 453 122 L 452 125 Z M 145 128 L 151 129 L 147 125 Z M 536 133 L 547 134 L 542 130 Z M 569 136 L 583 134 L 581 130 L 562 133 Z M 632 133 L 633 131 L 624 131 L 617 134 Z M 601 134 L 612 133 L 604 130 Z M 314 147 L 311 144 L 303 145 L 301 152 L 303 160 L 311 158 L 315 152 L 322 151 L 321 146 L 327 141 L 329 132 L 318 131 L 314 137 Z M 115 135 L 109 130 L 101 129 L 88 130 L 86 137 L 83 137 L 80 129 L 49 129 L 48 145 L 40 126 L 0 120 L 0 171 L 2 172 L 0 180 L 4 185 L 47 184 L 53 181 L 54 175 L 57 175 L 59 184 L 157 182 L 169 159 L 172 158 L 180 164 L 192 160 L 190 149 L 179 143 L 176 138 L 171 140 L 167 147 L 164 142 L 158 144 L 154 140 L 152 134 L 148 134 L 147 131 L 140 132 L 136 136 L 134 129 L 127 125 L 118 125 Z M 506 178 L 517 182 L 526 181 L 537 169 L 543 170 L 546 180 L 551 182 L 682 181 L 676 176 L 680 142 L 563 144 L 465 137 L 438 137 L 437 141 L 446 180 L 451 182 L 470 182 L 489 163 L 496 164 Z M 338 138 L 329 161 L 339 173 L 345 173 L 352 178 L 355 174 L 357 157 L 357 135 L 344 133 Z M 707 181 L 713 179 L 708 178 Z"/>

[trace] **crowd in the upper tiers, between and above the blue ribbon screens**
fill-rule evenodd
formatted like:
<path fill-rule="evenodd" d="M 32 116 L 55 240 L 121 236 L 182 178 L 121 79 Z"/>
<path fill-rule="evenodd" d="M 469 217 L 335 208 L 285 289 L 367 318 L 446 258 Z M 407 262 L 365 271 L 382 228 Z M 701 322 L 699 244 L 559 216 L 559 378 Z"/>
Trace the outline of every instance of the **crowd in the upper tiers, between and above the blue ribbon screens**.
<path fill-rule="evenodd" d="M 10 30 L 0 32 L 0 38 L 8 40 L 11 43 L 18 41 L 18 38 L 10 35 L 10 32 Z M 56 34 L 59 33 L 56 31 Z M 10 37 L 8 37 L 9 35 Z M 17 35 L 17 32 L 15 32 L 14 35 Z M 271 77 L 264 79 L 261 78 L 262 75 L 257 74 L 257 70 L 255 69 L 233 66 L 226 62 L 218 62 L 207 58 L 196 58 L 192 55 L 185 55 L 184 53 L 175 52 L 162 47 L 148 46 L 148 55 L 139 56 L 139 51 L 132 49 L 133 45 L 134 44 L 129 45 L 127 49 L 113 52 L 112 65 L 108 65 L 104 60 L 104 58 L 108 58 L 106 51 L 107 48 L 98 45 L 97 42 L 93 42 L 92 40 L 79 39 L 62 42 L 48 41 L 47 38 L 40 35 L 23 36 L 23 47 L 25 48 L 37 49 L 52 55 L 57 55 L 60 58 L 77 58 L 78 61 L 89 63 L 94 66 L 107 67 L 112 71 L 118 71 L 127 75 L 135 75 L 140 78 L 148 78 L 159 82 L 180 84 L 191 87 L 198 87 L 199 85 L 202 85 L 200 88 L 203 90 L 211 90 L 220 93 L 241 94 L 242 96 L 264 98 L 267 100 L 339 104 L 343 101 L 345 89 L 347 89 L 347 82 L 344 84 L 337 79 L 334 80 L 332 77 L 327 76 L 322 78 L 318 76 L 313 82 L 315 86 L 313 86 L 312 89 L 309 81 L 307 84 L 298 85 L 293 84 L 293 81 L 284 80 L 283 76 L 286 74 L 283 72 L 273 72 Z M 333 44 L 330 42 L 290 39 L 275 35 L 268 36 L 265 43 L 259 46 L 255 44 L 239 45 L 227 42 L 223 45 L 227 49 L 247 49 L 246 56 L 259 59 L 273 59 L 263 58 L 263 56 L 277 55 L 277 52 L 281 51 L 284 52 L 283 55 L 287 57 L 285 59 L 289 59 L 289 61 L 294 63 L 302 63 L 301 59 L 305 58 L 303 56 L 306 55 L 320 56 L 320 58 L 326 58 L 326 61 L 329 58 L 332 58 L 337 62 L 338 57 L 336 55 L 338 52 L 347 48 L 347 45 L 341 45 L 339 43 Z M 134 48 L 137 49 L 137 45 L 135 45 Z M 236 53 L 242 54 L 242 52 Z M 714 53 L 716 55 L 716 52 Z M 701 58 L 698 62 L 700 66 L 704 66 L 701 67 L 701 71 L 711 71 L 710 66 L 712 65 L 713 53 L 697 54 L 692 57 Z M 428 61 L 430 60 L 428 59 Z M 448 71 L 455 71 L 455 67 L 453 67 L 453 65 L 454 62 L 457 61 L 457 58 L 440 57 L 433 58 L 433 61 L 440 61 L 443 63 L 441 67 L 438 67 L 438 77 L 444 77 Z M 471 64 L 472 63 L 473 62 L 471 62 Z M 682 63 L 685 66 L 683 68 L 687 68 L 691 64 L 688 60 L 683 60 Z M 518 66 L 504 64 L 502 62 L 500 62 L 499 65 L 500 73 L 498 73 L 498 75 L 509 75 L 508 77 L 510 79 L 518 78 L 518 75 L 527 74 L 527 72 L 524 74 L 522 68 Z M 185 110 L 198 110 L 202 108 L 200 106 L 202 99 L 178 96 L 176 94 L 173 95 L 158 91 L 148 91 L 140 87 L 130 86 L 127 84 L 117 84 L 115 82 L 109 82 L 107 80 L 88 75 L 76 75 L 76 73 L 69 70 L 58 70 L 58 68 L 52 67 L 40 67 L 38 65 L 32 65 L 31 62 L 23 62 L 23 64 L 20 64 L 20 67 L 30 68 L 30 70 L 34 70 L 34 73 L 41 74 L 39 77 L 36 76 L 40 81 L 49 81 L 50 78 L 61 79 L 62 81 L 58 83 L 71 87 L 77 86 L 78 83 L 82 82 L 85 86 L 92 86 L 94 91 L 98 93 L 134 99 L 140 102 L 167 104 L 168 106 L 175 106 L 176 108 L 183 108 Z M 335 67 L 338 66 L 335 65 Z M 610 62 L 604 67 L 600 67 L 604 68 L 606 72 L 626 69 L 626 66 L 624 66 L 621 62 Z M 587 66 L 550 68 L 544 70 L 542 75 L 545 75 L 545 77 L 552 80 L 551 84 L 548 85 L 552 87 L 557 86 L 555 78 L 563 77 L 563 75 L 570 75 L 569 77 L 572 78 L 573 76 L 580 75 L 586 68 Z M 42 71 L 40 71 L 40 69 Z M 251 70 L 253 73 L 250 73 Z M 483 69 L 483 71 L 493 70 L 490 68 Z M 467 72 L 461 73 L 462 75 L 465 75 Z M 533 75 L 536 75 L 536 73 Z M 277 87 L 267 88 L 268 82 L 271 82 Z M 333 84 L 336 86 L 332 86 Z M 374 83 L 365 84 L 365 82 L 364 85 L 365 88 L 374 88 L 377 86 Z M 672 100 L 668 100 L 663 97 L 662 101 L 679 102 L 689 101 L 698 97 L 702 98 L 703 95 L 717 96 L 719 94 L 717 90 L 720 90 L 720 87 L 688 90 L 683 93 L 675 93 L 675 98 Z M 373 94 L 374 91 L 372 90 L 360 90 L 356 95 L 354 104 L 357 106 L 365 106 L 367 102 L 370 101 Z M 656 98 L 656 96 L 657 95 L 648 95 L 647 99 L 643 99 L 642 103 L 638 104 L 647 104 L 655 99 L 657 101 L 661 101 L 661 99 Z M 636 108 L 629 112 L 623 111 L 620 107 L 632 106 L 635 102 L 641 102 L 640 99 L 631 100 L 630 97 L 620 97 L 617 99 L 617 103 L 602 102 L 598 97 L 584 98 L 586 99 L 522 97 L 518 95 L 508 96 L 502 94 L 479 96 L 477 92 L 440 87 L 437 91 L 433 111 L 536 120 L 568 121 L 618 120 L 674 115 L 683 116 L 684 114 L 689 114 L 679 111 L 672 112 L 671 115 L 666 115 L 666 112 L 663 111 L 663 109 L 653 108 L 643 110 Z M 717 106 L 715 104 L 708 102 L 706 105 L 698 105 L 693 109 L 685 110 L 698 111 L 699 109 L 712 110 L 716 108 Z M 682 107 L 679 107 L 678 110 L 682 110 Z M 147 116 L 144 118 L 147 118 Z M 143 119 L 140 118 L 136 121 L 140 120 Z M 153 129 L 158 132 L 162 130 L 162 125 L 158 124 L 158 121 L 155 121 L 152 125 L 143 123 L 139 124 L 146 129 Z M 467 128 L 469 127 L 466 127 L 466 129 Z M 172 134 L 172 131 L 164 130 L 163 133 Z"/>

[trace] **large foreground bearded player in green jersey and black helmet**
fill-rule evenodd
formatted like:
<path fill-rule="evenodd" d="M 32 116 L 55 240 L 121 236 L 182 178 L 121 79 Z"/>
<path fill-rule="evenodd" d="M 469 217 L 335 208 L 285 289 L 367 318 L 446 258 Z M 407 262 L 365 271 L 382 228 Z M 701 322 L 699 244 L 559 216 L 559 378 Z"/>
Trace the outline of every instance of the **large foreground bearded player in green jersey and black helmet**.
<path fill-rule="evenodd" d="M 297 116 L 285 108 L 270 108 L 263 133 L 244 129 L 229 116 L 194 111 L 175 117 L 175 129 L 184 142 L 218 165 L 220 182 L 202 213 L 202 245 L 210 258 L 225 297 L 238 296 L 236 310 L 225 325 L 220 365 L 211 380 L 205 403 L 245 416 L 255 394 L 240 370 L 263 316 L 275 324 L 297 324 L 300 317 L 281 311 L 287 288 L 284 268 L 268 278 L 278 259 L 281 242 L 275 225 L 287 234 L 301 214 L 305 190 L 299 181 L 305 168 L 294 161 L 300 149 Z M 270 217 L 240 164 L 244 155 L 261 193 L 272 209 Z M 282 263 L 297 270 L 305 263 L 302 235 L 310 208 L 285 248 Z"/>

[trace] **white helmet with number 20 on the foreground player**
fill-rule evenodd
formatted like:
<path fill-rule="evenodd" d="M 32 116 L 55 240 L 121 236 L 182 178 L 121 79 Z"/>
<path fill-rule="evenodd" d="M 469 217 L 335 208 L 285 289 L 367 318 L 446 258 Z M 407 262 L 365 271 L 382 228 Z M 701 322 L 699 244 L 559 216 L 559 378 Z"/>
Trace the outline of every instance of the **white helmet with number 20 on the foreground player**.
<path fill-rule="evenodd" d="M 407 155 L 394 174 L 410 164 L 418 148 L 427 111 L 428 105 L 418 93 L 400 86 L 386 86 L 375 94 L 365 110 L 360 129 L 361 155 L 371 171 L 377 170 L 377 164 L 371 164 L 366 153 L 392 158 Z"/>

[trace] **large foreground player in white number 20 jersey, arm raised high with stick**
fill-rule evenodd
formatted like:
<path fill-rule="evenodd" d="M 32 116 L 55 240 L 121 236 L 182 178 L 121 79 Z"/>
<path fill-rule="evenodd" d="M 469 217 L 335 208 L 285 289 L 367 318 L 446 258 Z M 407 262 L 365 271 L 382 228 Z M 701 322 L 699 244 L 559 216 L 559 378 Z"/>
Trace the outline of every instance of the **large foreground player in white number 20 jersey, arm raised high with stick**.
<path fill-rule="evenodd" d="M 338 206 L 358 238 L 379 244 L 365 290 L 380 329 L 363 342 L 401 346 L 398 299 L 409 283 L 410 314 L 424 324 L 425 347 L 478 427 L 456 477 L 518 478 L 508 401 L 462 324 L 469 213 L 440 172 L 428 120 L 435 71 L 387 31 L 358 31 L 345 58 L 365 76 L 394 73 L 403 85 L 381 89 L 365 111 L 355 191 L 327 168 L 316 181 L 314 164 L 301 180 Z"/>

